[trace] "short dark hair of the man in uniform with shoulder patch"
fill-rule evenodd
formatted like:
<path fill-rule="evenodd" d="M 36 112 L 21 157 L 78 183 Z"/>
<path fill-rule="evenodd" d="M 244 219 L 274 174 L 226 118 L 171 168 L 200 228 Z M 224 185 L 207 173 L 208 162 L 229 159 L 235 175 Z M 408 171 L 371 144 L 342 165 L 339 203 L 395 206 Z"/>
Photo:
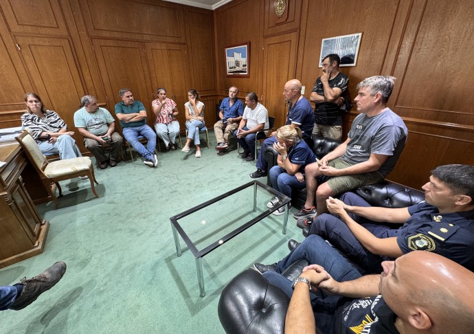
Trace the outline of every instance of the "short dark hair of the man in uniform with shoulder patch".
<path fill-rule="evenodd" d="M 445 183 L 454 194 L 464 194 L 474 201 L 474 166 L 451 164 L 438 166 L 431 175 Z"/>

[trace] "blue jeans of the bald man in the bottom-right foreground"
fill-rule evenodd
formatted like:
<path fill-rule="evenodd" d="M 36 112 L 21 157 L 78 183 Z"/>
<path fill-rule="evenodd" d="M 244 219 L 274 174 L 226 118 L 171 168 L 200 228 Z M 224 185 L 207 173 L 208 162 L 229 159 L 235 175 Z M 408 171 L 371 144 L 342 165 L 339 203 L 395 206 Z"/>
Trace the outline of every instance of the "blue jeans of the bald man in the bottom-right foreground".
<path fill-rule="evenodd" d="M 295 248 L 286 258 L 277 263 L 276 271 L 267 271 L 263 277 L 271 285 L 282 289 L 289 298 L 293 295 L 291 289 L 291 280 L 288 280 L 280 273 L 297 260 L 305 259 L 311 264 L 321 265 L 328 271 L 330 276 L 338 282 L 355 280 L 362 276 L 361 272 L 354 265 L 339 254 L 337 250 L 329 245 L 320 236 L 311 235 L 304 239 L 302 244 Z M 310 300 L 315 313 L 317 327 L 323 330 L 323 333 L 334 333 L 334 313 L 346 304 L 348 301 L 341 296 L 330 296 L 324 291 L 318 290 L 317 293 L 310 293 Z"/>

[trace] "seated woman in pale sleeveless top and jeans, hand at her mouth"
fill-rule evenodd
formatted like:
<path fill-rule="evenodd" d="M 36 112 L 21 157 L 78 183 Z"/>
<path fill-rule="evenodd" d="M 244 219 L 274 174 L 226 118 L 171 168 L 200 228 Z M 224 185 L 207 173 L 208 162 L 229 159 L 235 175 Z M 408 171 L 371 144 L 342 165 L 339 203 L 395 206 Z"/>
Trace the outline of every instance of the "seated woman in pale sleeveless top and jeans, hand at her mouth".
<path fill-rule="evenodd" d="M 199 91 L 191 89 L 188 91 L 189 102 L 184 104 L 186 115 L 186 129 L 188 129 L 188 138 L 181 151 L 189 152 L 191 140 L 194 140 L 196 146 L 195 157 L 201 157 L 201 148 L 199 144 L 199 130 L 204 127 L 204 103 L 199 101 Z"/>

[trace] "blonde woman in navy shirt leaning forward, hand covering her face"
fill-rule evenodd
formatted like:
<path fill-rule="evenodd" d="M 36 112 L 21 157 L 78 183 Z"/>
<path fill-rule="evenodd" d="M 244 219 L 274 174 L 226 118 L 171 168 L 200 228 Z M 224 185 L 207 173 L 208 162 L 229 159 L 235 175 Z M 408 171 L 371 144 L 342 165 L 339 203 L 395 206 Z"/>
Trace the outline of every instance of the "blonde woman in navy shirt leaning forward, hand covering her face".
<path fill-rule="evenodd" d="M 273 148 L 278 152 L 277 164 L 270 171 L 271 186 L 282 194 L 291 197 L 291 189 L 306 188 L 304 179 L 304 167 L 316 162 L 316 155 L 311 151 L 308 144 L 302 139 L 300 128 L 291 125 L 282 126 L 276 133 L 277 142 Z M 275 197 L 267 204 L 267 208 L 280 203 Z M 291 208 L 291 205 L 290 205 Z M 285 207 L 276 210 L 273 214 L 280 216 L 284 214 Z"/>

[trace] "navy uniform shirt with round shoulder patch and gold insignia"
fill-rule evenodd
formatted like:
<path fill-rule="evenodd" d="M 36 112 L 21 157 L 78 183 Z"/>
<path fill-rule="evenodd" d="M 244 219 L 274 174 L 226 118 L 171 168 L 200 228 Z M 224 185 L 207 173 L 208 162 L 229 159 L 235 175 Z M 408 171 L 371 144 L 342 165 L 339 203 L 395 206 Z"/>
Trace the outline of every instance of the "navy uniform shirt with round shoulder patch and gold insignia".
<path fill-rule="evenodd" d="M 424 250 L 440 254 L 474 271 L 474 210 L 440 214 L 438 208 L 425 201 L 408 208 L 408 219 L 396 236 L 404 254 Z"/>

